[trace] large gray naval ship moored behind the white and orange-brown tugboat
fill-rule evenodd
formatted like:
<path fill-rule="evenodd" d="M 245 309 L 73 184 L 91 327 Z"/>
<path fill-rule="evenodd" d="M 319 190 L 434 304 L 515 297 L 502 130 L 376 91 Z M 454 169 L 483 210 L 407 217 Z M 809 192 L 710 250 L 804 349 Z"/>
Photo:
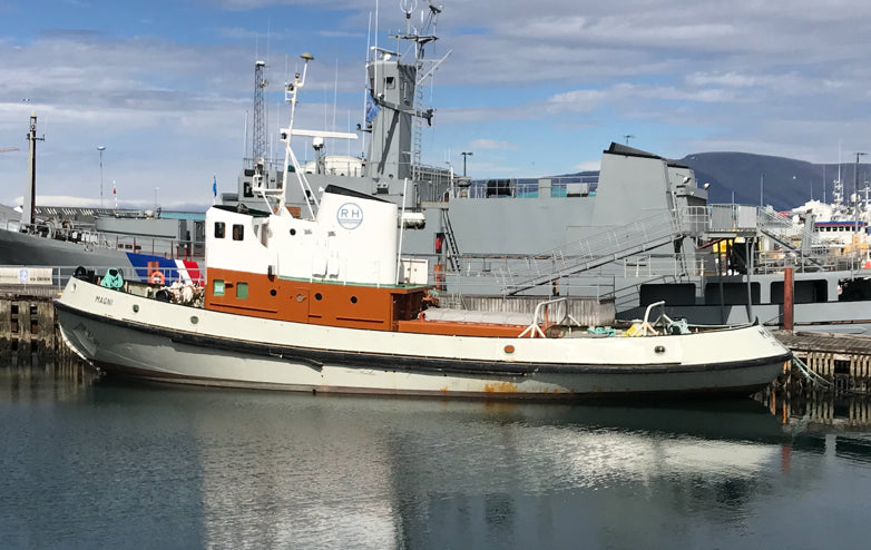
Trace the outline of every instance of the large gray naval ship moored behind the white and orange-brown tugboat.
<path fill-rule="evenodd" d="M 429 10 L 432 22 L 438 11 Z M 392 36 L 411 42 L 410 56 L 372 48 L 365 126 L 356 135 L 331 135 L 368 138 L 368 155 L 331 155 L 324 132 L 311 132 L 319 135 L 310 143 L 314 160 L 284 171 L 263 159 L 255 137 L 237 193 L 223 202 L 262 208 L 255 188 L 286 185 L 288 207 L 304 216 L 330 184 L 392 200 L 403 209 L 403 254 L 427 261 L 430 281 L 454 306 L 593 298 L 596 315 L 607 306 L 607 322 L 608 312 L 640 318 L 664 301 L 669 316 L 694 323 L 759 320 L 777 327 L 790 269 L 796 330 L 871 331 L 871 285 L 861 258 L 823 249 L 812 218 L 796 224 L 755 206 L 709 205 L 707 186 L 689 167 L 655 154 L 613 143 L 598 176 L 588 177 L 472 181 L 424 166 L 421 134 L 434 110 L 423 105 L 423 88 L 444 60 L 425 58 L 435 40 L 425 29 Z M 255 128 L 256 117 L 255 96 Z"/>

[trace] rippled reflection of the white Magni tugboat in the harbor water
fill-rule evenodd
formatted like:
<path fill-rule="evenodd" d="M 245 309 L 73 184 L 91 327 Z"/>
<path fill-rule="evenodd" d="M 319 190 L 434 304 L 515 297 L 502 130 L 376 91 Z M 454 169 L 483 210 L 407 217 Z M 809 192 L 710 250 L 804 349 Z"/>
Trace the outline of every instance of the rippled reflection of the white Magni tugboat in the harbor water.
<path fill-rule="evenodd" d="M 204 537 L 218 547 L 252 537 L 266 547 L 565 546 L 589 534 L 632 546 L 630 534 L 599 531 L 623 514 L 627 533 L 636 526 L 665 542 L 672 533 L 656 526 L 669 518 L 747 513 L 792 441 L 750 400 L 552 405 L 115 382 L 92 399 L 147 410 L 189 438 Z"/>

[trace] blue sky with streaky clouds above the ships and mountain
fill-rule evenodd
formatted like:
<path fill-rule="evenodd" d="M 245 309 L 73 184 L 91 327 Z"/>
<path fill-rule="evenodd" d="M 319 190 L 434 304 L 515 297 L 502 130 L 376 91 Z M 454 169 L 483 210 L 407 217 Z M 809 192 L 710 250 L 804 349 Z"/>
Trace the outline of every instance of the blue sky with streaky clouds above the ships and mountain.
<path fill-rule="evenodd" d="M 213 178 L 218 193 L 236 190 L 254 62 L 268 65 L 274 156 L 290 112 L 283 82 L 306 51 L 296 127 L 349 131 L 363 118 L 366 48 L 395 46 L 400 4 L 420 26 L 424 0 L 0 0 L 0 149 L 19 148 L 0 153 L 0 203 L 21 204 L 36 114 L 38 204 L 99 206 L 102 193 L 107 207 L 205 208 Z M 611 141 L 668 158 L 849 163 L 871 151 L 871 2 L 440 6 L 427 57 L 450 55 L 424 96 L 435 109 L 425 164 L 552 176 L 597 169 Z M 312 157 L 302 141 L 294 149 Z"/>

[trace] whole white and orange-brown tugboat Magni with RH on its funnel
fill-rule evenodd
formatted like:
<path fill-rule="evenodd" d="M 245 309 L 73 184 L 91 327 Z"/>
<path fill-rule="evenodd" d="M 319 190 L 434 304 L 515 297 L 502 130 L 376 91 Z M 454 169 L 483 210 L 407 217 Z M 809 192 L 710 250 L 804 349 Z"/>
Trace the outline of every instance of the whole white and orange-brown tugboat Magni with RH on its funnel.
<path fill-rule="evenodd" d="M 334 134 L 294 127 L 304 82 L 305 69 L 282 129 L 295 174 L 292 138 Z M 157 382 L 515 399 L 750 394 L 791 360 L 757 324 L 693 326 L 653 306 L 611 327 L 581 326 L 564 297 L 526 318 L 435 307 L 428 269 L 402 257 L 395 203 L 299 181 L 305 213 L 260 180 L 262 209 L 207 210 L 206 285 L 187 298 L 114 275 L 70 279 L 56 302 L 65 342 L 107 373 Z"/>

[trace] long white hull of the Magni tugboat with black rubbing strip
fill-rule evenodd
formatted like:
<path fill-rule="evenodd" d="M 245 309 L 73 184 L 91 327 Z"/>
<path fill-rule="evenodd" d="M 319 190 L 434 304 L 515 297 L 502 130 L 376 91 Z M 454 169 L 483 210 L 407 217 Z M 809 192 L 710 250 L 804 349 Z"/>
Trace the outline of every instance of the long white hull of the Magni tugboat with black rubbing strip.
<path fill-rule="evenodd" d="M 759 326 L 561 340 L 408 334 L 231 315 L 76 279 L 57 306 L 65 341 L 100 369 L 202 385 L 548 399 L 752 393 L 790 357 Z"/>

